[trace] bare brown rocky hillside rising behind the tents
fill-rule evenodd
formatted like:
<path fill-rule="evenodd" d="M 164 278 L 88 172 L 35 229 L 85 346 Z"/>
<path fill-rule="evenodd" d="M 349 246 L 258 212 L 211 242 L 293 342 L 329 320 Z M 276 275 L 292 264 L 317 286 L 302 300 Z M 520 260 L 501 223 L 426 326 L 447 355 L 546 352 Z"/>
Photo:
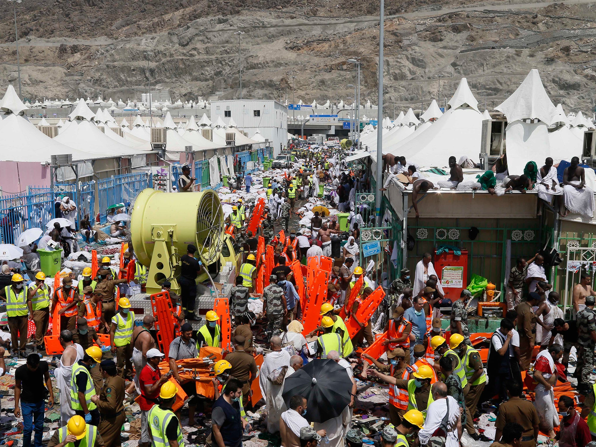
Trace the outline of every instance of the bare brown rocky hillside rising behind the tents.
<path fill-rule="evenodd" d="M 440 3 L 440 5 L 439 5 Z M 493 108 L 537 68 L 555 104 L 591 111 L 596 85 L 592 4 L 386 2 L 385 111 L 444 104 L 467 76 Z M 12 5 L 0 3 L 0 85 L 17 79 Z M 492 8 L 492 10 L 491 10 Z M 21 80 L 28 98 L 173 99 L 243 96 L 324 102 L 351 97 L 361 57 L 361 100 L 377 103 L 378 10 L 347 0 L 28 0 L 17 7 Z M 396 16 L 395 14 L 399 14 Z M 293 79 L 291 76 L 296 76 Z M 351 101 L 348 101 L 351 103 Z"/>

